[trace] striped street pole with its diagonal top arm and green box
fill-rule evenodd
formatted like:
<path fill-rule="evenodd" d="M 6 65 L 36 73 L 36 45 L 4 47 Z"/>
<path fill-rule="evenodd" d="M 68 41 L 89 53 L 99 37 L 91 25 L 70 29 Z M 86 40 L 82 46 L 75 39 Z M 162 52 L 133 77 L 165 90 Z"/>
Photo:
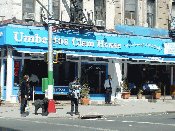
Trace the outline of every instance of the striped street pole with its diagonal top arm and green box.
<path fill-rule="evenodd" d="M 48 113 L 56 113 L 55 109 L 55 101 L 53 100 L 53 85 L 54 85 L 54 79 L 53 79 L 53 24 L 55 24 L 55 20 L 52 18 L 53 14 L 53 6 L 52 6 L 52 0 L 48 0 L 48 7 L 47 10 L 46 7 L 39 1 L 36 0 L 47 12 L 48 14 L 48 78 L 42 79 L 42 90 L 47 90 L 45 94 L 48 93 Z M 44 88 L 43 88 L 44 87 Z M 45 91 L 46 91 L 45 90 Z M 45 95 L 46 97 L 46 95 Z"/>

